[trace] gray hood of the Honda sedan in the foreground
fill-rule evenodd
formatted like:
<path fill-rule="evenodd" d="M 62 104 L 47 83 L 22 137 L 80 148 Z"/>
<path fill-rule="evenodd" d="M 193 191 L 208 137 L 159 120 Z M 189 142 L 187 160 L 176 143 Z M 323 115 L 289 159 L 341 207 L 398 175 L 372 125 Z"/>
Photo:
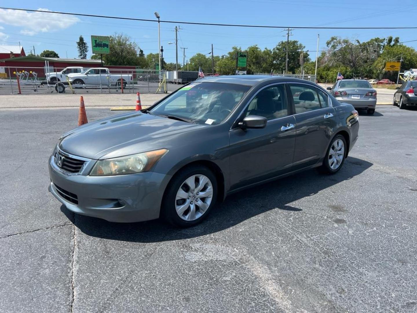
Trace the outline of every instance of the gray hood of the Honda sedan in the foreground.
<path fill-rule="evenodd" d="M 111 116 L 68 131 L 59 148 L 88 159 L 107 159 L 166 148 L 173 138 L 203 125 L 133 112 Z"/>

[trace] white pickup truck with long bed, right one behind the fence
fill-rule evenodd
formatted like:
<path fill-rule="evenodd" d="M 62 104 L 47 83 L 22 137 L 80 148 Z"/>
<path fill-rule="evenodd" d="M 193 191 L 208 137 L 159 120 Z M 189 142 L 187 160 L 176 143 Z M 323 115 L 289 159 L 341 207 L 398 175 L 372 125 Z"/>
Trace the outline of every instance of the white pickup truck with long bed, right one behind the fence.
<path fill-rule="evenodd" d="M 108 68 L 103 67 L 89 68 L 83 73 L 68 74 L 68 79 L 75 87 L 77 85 L 121 86 L 121 82 L 123 82 L 123 87 L 126 87 L 126 84 L 133 82 L 131 74 L 110 73 Z"/>

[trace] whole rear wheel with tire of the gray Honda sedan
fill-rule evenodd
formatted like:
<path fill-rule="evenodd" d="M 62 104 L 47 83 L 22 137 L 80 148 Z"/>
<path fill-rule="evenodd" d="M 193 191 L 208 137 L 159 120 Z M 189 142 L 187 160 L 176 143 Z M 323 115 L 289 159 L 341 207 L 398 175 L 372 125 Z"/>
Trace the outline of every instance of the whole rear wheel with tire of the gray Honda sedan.
<path fill-rule="evenodd" d="M 330 142 L 326 156 L 323 160 L 322 170 L 328 174 L 335 174 L 342 168 L 347 153 L 347 144 L 344 136 L 337 135 Z"/>

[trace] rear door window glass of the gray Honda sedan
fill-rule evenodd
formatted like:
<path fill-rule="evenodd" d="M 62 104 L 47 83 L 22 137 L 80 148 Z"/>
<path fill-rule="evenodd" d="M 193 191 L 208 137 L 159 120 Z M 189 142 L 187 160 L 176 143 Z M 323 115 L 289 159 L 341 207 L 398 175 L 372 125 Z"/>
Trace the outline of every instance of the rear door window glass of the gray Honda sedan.
<path fill-rule="evenodd" d="M 295 113 L 304 113 L 321 109 L 317 89 L 313 86 L 289 84 L 294 99 Z"/>

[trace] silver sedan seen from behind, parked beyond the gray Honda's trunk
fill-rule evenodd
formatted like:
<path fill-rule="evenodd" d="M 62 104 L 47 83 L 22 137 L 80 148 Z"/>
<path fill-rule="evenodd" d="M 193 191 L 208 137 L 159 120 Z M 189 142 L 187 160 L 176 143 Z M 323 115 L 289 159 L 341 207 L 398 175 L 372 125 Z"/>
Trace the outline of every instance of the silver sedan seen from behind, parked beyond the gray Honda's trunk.
<path fill-rule="evenodd" d="M 365 109 L 374 114 L 377 105 L 377 91 L 368 81 L 362 79 L 343 79 L 327 90 L 340 102 L 349 103 L 355 109 Z"/>

